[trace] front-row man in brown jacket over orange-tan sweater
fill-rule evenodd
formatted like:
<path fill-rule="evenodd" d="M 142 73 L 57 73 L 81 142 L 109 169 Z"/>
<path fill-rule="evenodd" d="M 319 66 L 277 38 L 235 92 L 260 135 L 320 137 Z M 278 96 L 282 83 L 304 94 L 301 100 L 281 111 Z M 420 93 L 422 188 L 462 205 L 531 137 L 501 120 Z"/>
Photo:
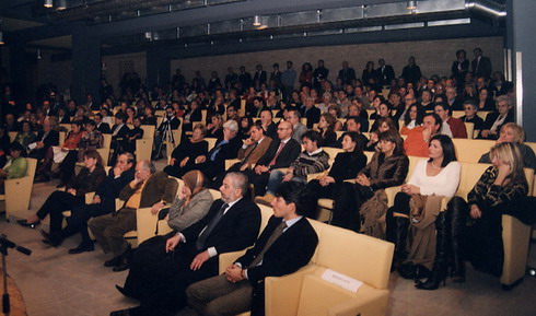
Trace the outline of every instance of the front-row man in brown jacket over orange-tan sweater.
<path fill-rule="evenodd" d="M 114 258 L 104 262 L 114 267 L 114 272 L 129 268 L 130 245 L 124 236 L 136 231 L 136 210 L 151 207 L 156 213 L 166 203 L 173 202 L 177 191 L 177 182 L 168 178 L 164 172 L 156 172 L 154 164 L 140 161 L 136 164 L 135 179 L 119 194 L 125 206 L 115 213 L 91 219 L 89 226 L 105 254 Z"/>

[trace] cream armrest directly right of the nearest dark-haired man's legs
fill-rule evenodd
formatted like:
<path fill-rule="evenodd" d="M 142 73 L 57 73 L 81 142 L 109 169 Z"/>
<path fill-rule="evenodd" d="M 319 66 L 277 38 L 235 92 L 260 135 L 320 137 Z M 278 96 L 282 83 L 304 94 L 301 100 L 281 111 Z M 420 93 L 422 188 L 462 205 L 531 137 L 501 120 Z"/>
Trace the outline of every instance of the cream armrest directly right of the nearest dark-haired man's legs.
<path fill-rule="evenodd" d="M 292 274 L 269 277 L 265 279 L 265 312 L 266 316 L 298 315 L 303 278 L 316 270 L 315 265 L 308 265 Z"/>

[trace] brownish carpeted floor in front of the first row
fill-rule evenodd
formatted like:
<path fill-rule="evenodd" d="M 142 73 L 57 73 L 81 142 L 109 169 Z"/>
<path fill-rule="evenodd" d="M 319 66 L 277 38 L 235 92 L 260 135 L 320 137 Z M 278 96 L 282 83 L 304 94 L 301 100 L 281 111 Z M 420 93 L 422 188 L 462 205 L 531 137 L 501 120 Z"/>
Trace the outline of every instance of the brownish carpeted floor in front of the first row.
<path fill-rule="evenodd" d="M 34 186 L 32 212 L 35 212 L 56 183 Z M 31 212 L 30 212 L 31 213 Z M 48 230 L 46 222 L 40 229 Z M 0 233 L 33 250 L 27 257 L 10 249 L 8 272 L 18 283 L 30 316 L 104 316 L 110 311 L 137 305 L 116 291 L 127 272 L 112 272 L 103 267 L 107 259 L 96 246 L 95 251 L 68 255 L 67 250 L 78 245 L 79 237 L 66 241 L 51 248 L 40 242 L 37 230 L 19 226 L 14 221 L 0 220 Z M 529 265 L 536 266 L 536 247 L 533 245 Z M 501 290 L 499 280 L 474 271 L 468 267 L 467 282 L 446 282 L 436 291 L 421 291 L 413 282 L 392 273 L 391 300 L 387 315 L 536 315 L 536 279 L 525 281 L 512 291 Z M 191 315 L 184 311 L 180 315 Z M 315 316 L 315 315 L 311 315 Z"/>

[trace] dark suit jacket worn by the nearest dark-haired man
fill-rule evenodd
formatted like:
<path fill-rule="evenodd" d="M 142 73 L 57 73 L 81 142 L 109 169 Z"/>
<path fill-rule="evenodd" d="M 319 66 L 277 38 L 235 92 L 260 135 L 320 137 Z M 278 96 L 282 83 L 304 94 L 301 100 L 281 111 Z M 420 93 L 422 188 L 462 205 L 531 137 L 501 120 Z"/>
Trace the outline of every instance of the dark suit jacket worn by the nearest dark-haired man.
<path fill-rule="evenodd" d="M 240 257 L 236 262 L 246 269 L 249 264 L 260 254 L 276 227 L 281 223 L 280 218 L 271 216 L 258 237 L 255 246 Z M 280 277 L 298 271 L 306 266 L 313 257 L 318 236 L 311 223 L 302 218 L 284 231 L 263 257 L 263 264 L 247 269 L 247 278 L 253 286 L 264 285 L 266 277 Z"/>

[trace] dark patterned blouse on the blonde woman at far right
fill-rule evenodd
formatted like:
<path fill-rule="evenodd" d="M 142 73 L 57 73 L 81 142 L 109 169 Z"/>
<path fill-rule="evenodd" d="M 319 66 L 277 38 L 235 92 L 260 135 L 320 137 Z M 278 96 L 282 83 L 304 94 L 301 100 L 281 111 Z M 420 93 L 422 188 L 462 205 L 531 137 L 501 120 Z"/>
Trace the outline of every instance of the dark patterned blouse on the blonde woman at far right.
<path fill-rule="evenodd" d="M 493 185 L 498 174 L 499 171 L 493 166 L 486 169 L 473 190 L 467 195 L 469 204 L 477 204 L 480 210 L 485 210 L 521 199 L 527 195 L 528 185 L 526 182 L 509 182 L 503 186 Z"/>

